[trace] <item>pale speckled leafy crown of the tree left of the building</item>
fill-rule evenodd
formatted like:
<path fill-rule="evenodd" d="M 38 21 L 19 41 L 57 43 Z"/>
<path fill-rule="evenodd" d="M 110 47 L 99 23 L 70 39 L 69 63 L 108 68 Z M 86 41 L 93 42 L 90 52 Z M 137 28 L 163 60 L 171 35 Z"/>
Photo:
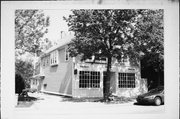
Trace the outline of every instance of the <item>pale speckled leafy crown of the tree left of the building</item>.
<path fill-rule="evenodd" d="M 48 32 L 49 17 L 40 10 L 15 11 L 15 48 L 19 53 L 41 51 L 43 36 Z"/>

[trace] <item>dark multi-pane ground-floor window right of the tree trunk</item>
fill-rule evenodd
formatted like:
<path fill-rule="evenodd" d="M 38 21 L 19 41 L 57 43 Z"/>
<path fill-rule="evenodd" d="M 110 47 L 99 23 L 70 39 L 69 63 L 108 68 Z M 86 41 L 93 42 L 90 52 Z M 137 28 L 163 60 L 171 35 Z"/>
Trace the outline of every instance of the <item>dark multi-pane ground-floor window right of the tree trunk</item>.
<path fill-rule="evenodd" d="M 119 73 L 119 88 L 135 88 L 135 73 Z"/>

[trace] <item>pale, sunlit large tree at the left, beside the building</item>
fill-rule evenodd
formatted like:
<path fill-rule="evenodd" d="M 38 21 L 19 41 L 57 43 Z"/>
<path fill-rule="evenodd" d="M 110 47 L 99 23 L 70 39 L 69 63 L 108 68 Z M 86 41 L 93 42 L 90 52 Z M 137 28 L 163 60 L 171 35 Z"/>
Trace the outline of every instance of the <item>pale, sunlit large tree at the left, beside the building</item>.
<path fill-rule="evenodd" d="M 36 61 L 34 60 L 33 68 L 33 62 L 23 61 L 19 57 L 28 53 L 32 55 L 32 58 L 40 55 L 45 44 L 50 42 L 44 38 L 48 32 L 48 26 L 49 17 L 45 16 L 42 10 L 18 9 L 15 11 L 15 70 L 16 75 L 21 76 L 27 85 L 28 79 L 35 71 Z M 16 82 L 17 80 L 18 78 L 16 78 Z M 21 87 L 16 85 L 16 88 Z"/>

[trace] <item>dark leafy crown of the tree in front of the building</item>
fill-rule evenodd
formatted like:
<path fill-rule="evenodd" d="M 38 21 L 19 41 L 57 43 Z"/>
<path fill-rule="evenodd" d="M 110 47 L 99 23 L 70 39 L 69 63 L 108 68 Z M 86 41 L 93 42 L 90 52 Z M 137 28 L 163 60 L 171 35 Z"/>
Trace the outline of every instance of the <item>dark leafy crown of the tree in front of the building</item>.
<path fill-rule="evenodd" d="M 126 58 L 136 15 L 135 10 L 73 10 L 65 18 L 76 36 L 70 43 L 70 55 Z"/>

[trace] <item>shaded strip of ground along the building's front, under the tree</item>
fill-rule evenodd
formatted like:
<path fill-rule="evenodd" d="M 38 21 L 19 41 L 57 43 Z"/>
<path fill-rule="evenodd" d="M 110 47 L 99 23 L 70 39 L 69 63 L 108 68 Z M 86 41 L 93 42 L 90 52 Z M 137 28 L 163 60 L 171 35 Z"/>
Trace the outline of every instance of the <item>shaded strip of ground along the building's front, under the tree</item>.
<path fill-rule="evenodd" d="M 73 98 L 73 97 L 63 97 L 62 102 L 100 102 L 104 104 L 121 104 L 121 103 L 128 103 L 134 101 L 133 98 L 127 97 L 113 97 L 110 100 L 106 101 L 100 97 L 93 97 L 93 98 Z"/>

